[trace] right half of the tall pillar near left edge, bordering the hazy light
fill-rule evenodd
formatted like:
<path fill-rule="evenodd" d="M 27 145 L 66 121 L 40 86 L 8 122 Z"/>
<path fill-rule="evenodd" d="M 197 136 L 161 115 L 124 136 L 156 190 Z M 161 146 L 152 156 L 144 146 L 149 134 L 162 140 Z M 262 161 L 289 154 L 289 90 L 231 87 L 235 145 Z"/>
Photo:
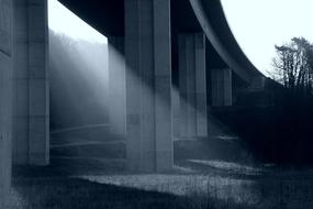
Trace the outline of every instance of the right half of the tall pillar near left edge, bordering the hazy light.
<path fill-rule="evenodd" d="M 30 164 L 49 162 L 47 1 L 29 0 Z"/>

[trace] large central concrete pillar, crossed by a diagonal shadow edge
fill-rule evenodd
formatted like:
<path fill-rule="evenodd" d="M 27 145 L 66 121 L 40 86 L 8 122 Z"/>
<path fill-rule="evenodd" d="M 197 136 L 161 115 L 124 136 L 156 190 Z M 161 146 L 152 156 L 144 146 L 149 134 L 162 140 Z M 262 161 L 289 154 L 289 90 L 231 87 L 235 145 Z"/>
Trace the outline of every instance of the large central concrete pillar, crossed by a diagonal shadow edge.
<path fill-rule="evenodd" d="M 171 169 L 170 0 L 125 1 L 125 56 L 130 169 Z"/>

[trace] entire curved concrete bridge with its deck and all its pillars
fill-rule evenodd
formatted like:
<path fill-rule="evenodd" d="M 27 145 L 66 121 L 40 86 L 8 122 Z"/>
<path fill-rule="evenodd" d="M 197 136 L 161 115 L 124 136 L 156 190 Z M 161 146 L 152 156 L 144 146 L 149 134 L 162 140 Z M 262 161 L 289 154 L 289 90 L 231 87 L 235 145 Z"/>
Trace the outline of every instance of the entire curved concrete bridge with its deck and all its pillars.
<path fill-rule="evenodd" d="M 220 0 L 60 2 L 108 36 L 110 79 L 119 80 L 110 82 L 110 122 L 127 141 L 132 172 L 170 170 L 175 136 L 210 132 L 208 106 L 232 106 L 237 89 L 262 88 Z M 49 164 L 47 0 L 0 0 L 0 66 L 1 206 L 11 150 L 15 164 Z"/>

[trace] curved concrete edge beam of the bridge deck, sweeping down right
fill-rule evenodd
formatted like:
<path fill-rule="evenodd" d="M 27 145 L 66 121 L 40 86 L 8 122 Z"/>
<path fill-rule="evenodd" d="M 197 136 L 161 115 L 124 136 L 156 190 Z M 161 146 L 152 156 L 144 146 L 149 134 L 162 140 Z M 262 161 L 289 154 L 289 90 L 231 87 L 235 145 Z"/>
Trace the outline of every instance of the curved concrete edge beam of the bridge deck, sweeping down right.
<path fill-rule="evenodd" d="M 211 44 L 224 62 L 245 81 L 264 75 L 250 63 L 227 24 L 220 0 L 189 0 Z"/>

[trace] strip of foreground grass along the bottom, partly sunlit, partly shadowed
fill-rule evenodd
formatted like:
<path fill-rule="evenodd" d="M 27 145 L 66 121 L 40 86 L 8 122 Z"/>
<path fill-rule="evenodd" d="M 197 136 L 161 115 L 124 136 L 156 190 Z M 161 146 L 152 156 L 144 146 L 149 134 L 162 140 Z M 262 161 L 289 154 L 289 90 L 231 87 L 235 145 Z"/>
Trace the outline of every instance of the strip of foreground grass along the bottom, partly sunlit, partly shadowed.
<path fill-rule="evenodd" d="M 9 209 L 308 209 L 312 179 L 232 179 L 212 175 L 19 178 Z M 103 183 L 100 183 L 100 182 Z"/>

